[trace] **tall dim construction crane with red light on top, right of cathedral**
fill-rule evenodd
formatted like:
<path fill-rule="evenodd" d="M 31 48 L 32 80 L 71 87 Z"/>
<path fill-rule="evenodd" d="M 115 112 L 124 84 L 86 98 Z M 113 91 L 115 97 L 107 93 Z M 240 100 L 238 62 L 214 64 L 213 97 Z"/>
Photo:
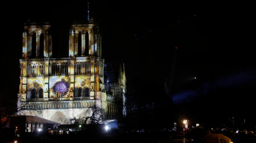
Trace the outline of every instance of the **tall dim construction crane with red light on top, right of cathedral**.
<path fill-rule="evenodd" d="M 170 79 L 168 84 L 165 82 L 165 91 L 166 91 L 166 119 L 168 119 L 168 122 L 170 121 L 170 104 L 172 104 L 172 97 L 171 97 L 171 91 L 172 91 L 172 82 L 174 80 L 174 71 L 175 71 L 175 65 L 176 65 L 176 59 L 178 55 L 178 48 L 175 47 L 174 49 L 174 59 L 172 63 L 172 69 L 171 69 L 171 74 L 170 74 Z M 171 101 L 171 102 L 170 102 Z"/>

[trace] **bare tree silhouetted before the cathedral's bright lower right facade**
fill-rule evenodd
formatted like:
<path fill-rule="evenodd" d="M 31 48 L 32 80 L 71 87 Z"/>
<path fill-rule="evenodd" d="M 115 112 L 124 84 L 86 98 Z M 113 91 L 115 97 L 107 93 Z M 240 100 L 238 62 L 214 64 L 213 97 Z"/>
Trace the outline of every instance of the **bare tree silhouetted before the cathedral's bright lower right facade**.
<path fill-rule="evenodd" d="M 104 120 L 106 112 L 97 106 L 86 108 L 75 119 L 74 124 L 98 124 Z"/>

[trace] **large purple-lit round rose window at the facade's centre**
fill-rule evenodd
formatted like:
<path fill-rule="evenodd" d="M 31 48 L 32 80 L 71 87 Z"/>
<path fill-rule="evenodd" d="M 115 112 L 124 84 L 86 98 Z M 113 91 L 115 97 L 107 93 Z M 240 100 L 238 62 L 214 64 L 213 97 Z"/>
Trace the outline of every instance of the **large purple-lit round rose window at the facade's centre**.
<path fill-rule="evenodd" d="M 65 96 L 68 94 L 68 84 L 64 81 L 58 81 L 53 86 L 53 92 L 55 95 Z"/>

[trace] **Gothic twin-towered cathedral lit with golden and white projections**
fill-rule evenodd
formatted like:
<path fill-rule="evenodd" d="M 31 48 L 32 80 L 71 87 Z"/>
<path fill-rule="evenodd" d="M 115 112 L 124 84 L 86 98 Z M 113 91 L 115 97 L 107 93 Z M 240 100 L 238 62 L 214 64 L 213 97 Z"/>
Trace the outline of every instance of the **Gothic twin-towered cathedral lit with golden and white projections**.
<path fill-rule="evenodd" d="M 54 58 L 49 22 L 28 21 L 22 33 L 20 102 L 23 114 L 68 124 L 86 109 L 104 110 L 102 121 L 126 116 L 126 76 L 120 64 L 118 81 L 104 78 L 102 34 L 91 18 L 70 25 L 68 55 Z M 92 114 L 92 113 L 90 113 Z"/>

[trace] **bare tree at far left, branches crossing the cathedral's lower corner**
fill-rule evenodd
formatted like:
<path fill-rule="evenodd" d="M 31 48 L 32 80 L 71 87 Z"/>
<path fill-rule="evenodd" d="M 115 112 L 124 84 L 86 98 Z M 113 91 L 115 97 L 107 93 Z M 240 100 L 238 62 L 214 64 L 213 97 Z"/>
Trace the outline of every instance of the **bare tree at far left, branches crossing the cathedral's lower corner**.
<path fill-rule="evenodd" d="M 40 110 L 38 110 L 38 107 L 35 106 L 35 104 L 30 104 L 31 99 L 22 99 L 22 96 L 26 93 L 18 94 L 18 98 L 16 100 L 8 100 L 7 98 L 3 98 L 0 102 L 0 116 L 1 116 L 1 123 L 0 127 L 4 127 L 11 116 L 13 115 L 25 115 L 26 112 L 32 114 L 32 112 L 35 113 L 41 113 Z"/>

